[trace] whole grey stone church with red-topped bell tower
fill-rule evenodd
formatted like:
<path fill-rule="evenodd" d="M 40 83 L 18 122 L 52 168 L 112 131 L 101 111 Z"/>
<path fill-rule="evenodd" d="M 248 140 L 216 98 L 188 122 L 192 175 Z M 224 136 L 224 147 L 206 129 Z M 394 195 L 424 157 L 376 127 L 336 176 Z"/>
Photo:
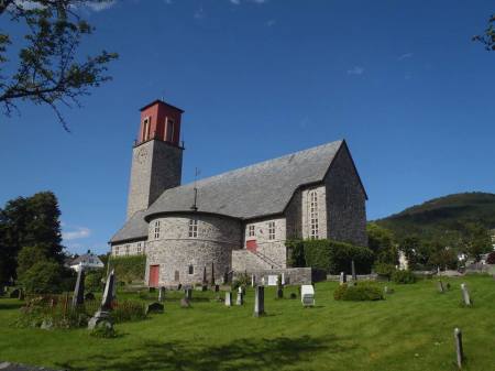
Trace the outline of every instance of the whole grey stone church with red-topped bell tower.
<path fill-rule="evenodd" d="M 226 272 L 287 268 L 288 239 L 365 245 L 366 192 L 345 141 L 182 185 L 184 111 L 141 109 L 128 214 L 114 257 L 145 254 L 150 286 L 200 283 Z"/>

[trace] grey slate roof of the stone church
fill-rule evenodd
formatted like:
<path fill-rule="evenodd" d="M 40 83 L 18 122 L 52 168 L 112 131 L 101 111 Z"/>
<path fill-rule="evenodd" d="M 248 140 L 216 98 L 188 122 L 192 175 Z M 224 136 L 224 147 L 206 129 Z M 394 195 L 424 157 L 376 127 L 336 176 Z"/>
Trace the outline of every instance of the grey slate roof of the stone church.
<path fill-rule="evenodd" d="M 239 219 L 282 214 L 297 188 L 323 181 L 343 143 L 327 143 L 198 181 L 198 211 Z M 194 187 L 190 183 L 166 189 L 147 210 L 134 214 L 110 242 L 147 237 L 144 218 L 151 215 L 190 212 Z"/>

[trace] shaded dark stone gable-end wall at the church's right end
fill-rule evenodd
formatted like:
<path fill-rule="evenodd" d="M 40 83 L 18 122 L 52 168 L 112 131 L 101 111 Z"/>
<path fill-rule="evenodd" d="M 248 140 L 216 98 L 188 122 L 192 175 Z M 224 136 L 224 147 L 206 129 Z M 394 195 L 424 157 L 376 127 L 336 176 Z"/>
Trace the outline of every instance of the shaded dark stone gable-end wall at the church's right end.
<path fill-rule="evenodd" d="M 367 245 L 366 198 L 346 148 L 343 148 L 333 160 L 324 183 L 328 237 Z"/>

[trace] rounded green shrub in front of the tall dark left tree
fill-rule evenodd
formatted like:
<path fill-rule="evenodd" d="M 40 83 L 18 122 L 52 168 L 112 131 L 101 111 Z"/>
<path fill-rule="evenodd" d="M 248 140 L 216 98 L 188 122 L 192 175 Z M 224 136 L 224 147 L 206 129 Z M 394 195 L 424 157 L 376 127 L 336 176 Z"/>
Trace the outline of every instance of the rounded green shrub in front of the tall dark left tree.
<path fill-rule="evenodd" d="M 28 293 L 61 293 L 64 285 L 64 272 L 54 261 L 40 261 L 26 270 L 19 281 Z"/>

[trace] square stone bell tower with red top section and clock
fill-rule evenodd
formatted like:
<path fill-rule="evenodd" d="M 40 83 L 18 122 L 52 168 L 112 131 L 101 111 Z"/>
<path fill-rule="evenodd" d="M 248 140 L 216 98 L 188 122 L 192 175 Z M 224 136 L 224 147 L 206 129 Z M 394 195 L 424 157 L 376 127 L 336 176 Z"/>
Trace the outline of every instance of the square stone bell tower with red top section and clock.
<path fill-rule="evenodd" d="M 163 100 L 141 109 L 138 140 L 132 149 L 128 219 L 145 210 L 168 188 L 180 185 L 183 151 L 179 144 L 184 111 Z"/>

